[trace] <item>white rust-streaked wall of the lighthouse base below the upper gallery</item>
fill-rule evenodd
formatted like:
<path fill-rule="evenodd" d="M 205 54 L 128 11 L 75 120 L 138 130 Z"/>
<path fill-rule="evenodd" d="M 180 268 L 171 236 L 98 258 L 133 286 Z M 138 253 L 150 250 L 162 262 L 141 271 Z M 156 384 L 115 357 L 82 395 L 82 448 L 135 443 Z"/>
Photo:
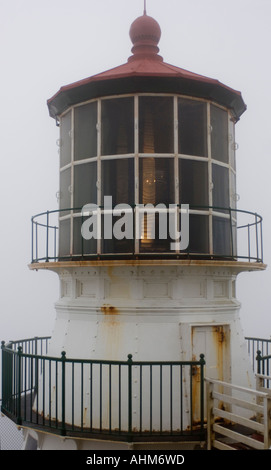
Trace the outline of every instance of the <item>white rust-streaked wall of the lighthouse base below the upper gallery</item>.
<path fill-rule="evenodd" d="M 126 361 L 127 355 L 132 354 L 134 361 L 182 361 L 198 360 L 199 354 L 203 353 L 206 358 L 212 359 L 210 364 L 206 365 L 209 376 L 217 377 L 217 370 L 221 369 L 221 364 L 216 362 L 223 361 L 224 375 L 219 378 L 232 380 L 233 383 L 245 387 L 252 386 L 254 377 L 240 325 L 240 304 L 235 297 L 235 281 L 240 269 L 237 265 L 233 267 L 216 263 L 213 265 L 192 263 L 190 266 L 128 264 L 60 268 L 57 270 L 60 278 L 60 298 L 55 305 L 56 320 L 48 354 L 60 357 L 64 350 L 67 358 Z M 221 348 L 219 349 L 218 345 L 211 341 L 213 327 L 216 326 L 227 331 L 224 338 L 227 342 L 226 356 L 225 349 L 224 353 L 221 353 Z M 203 335 L 192 339 L 195 331 L 198 335 L 199 332 Z M 217 358 L 213 358 L 216 353 Z M 66 371 L 66 377 L 69 377 L 68 365 Z M 98 370 L 95 373 L 98 377 Z M 80 382 L 79 378 L 78 381 Z M 86 402 L 89 401 L 90 395 L 89 382 L 90 376 L 86 373 L 84 376 Z M 135 428 L 139 426 L 137 382 L 138 376 L 134 371 Z M 125 374 L 122 384 L 126 390 Z M 188 384 L 187 379 L 187 413 Z M 70 385 L 69 383 L 66 387 L 67 393 L 71 393 Z M 112 390 L 114 387 L 116 389 L 118 387 L 117 373 L 115 376 L 112 374 Z M 105 386 L 103 392 L 103 410 L 107 408 L 107 412 L 103 413 L 102 425 L 107 429 L 109 410 L 108 390 Z M 96 393 L 99 394 L 98 389 Z M 163 391 L 163 394 L 166 393 L 169 393 L 168 390 Z M 114 399 L 114 392 L 112 396 Z M 122 415 L 127 410 L 126 397 L 127 393 L 124 392 Z M 156 399 L 159 400 L 158 392 L 154 401 Z M 144 406 L 146 407 L 144 416 L 148 416 L 149 405 Z M 53 402 L 51 409 L 54 409 Z M 186 416 L 189 425 L 189 415 Z M 71 419 L 70 409 L 66 406 L 66 420 L 71 422 Z M 89 425 L 89 419 L 90 411 L 86 409 L 84 425 Z M 92 411 L 93 427 L 99 428 L 99 419 L 97 402 Z M 117 407 L 115 409 L 113 407 L 113 428 L 117 426 L 117 422 Z M 81 424 L 79 404 L 75 409 L 76 423 Z M 167 426 L 166 420 L 163 424 Z M 126 418 L 123 416 L 123 426 L 128 428 L 127 416 Z M 158 417 L 154 417 L 153 426 L 154 429 L 159 429 Z"/>

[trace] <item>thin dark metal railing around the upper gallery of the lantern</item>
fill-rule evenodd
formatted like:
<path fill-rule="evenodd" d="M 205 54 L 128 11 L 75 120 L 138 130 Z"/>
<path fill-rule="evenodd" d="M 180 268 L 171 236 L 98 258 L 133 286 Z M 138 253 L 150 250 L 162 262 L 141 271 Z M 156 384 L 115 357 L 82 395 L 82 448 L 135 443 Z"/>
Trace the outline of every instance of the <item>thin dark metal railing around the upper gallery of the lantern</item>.
<path fill-rule="evenodd" d="M 160 217 L 175 217 L 176 230 L 181 228 L 184 211 L 181 205 L 166 209 L 143 209 L 144 213 Z M 142 218 L 138 217 L 141 206 L 125 209 L 131 215 L 132 236 L 126 240 L 112 240 L 103 235 L 106 209 L 86 213 L 82 208 L 46 211 L 32 217 L 31 262 L 62 260 L 102 259 L 107 257 L 196 257 L 197 259 L 226 259 L 263 262 L 262 217 L 256 213 L 211 206 L 188 206 L 189 243 L 184 249 L 171 248 L 174 240 L 169 236 L 150 243 L 142 241 Z M 88 216 L 97 216 L 96 239 L 86 240 L 81 228 Z M 109 211 L 110 212 L 110 211 Z M 111 211 L 115 220 L 123 213 Z M 139 222 L 140 220 L 140 222 Z M 171 219 L 173 220 L 173 219 Z M 157 225 L 157 220 L 156 220 Z M 139 224 L 141 224 L 139 226 Z M 157 227 L 156 227 L 157 228 Z M 175 245 L 174 245 L 175 246 Z"/>

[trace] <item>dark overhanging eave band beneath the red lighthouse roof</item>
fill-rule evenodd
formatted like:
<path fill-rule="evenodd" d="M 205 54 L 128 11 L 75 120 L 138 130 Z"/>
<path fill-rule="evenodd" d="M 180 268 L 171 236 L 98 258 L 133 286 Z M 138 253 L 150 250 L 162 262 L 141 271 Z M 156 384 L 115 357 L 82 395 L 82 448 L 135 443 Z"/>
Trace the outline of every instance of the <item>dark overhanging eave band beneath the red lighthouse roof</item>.
<path fill-rule="evenodd" d="M 229 88 L 217 80 L 202 76 L 185 77 L 176 73 L 123 73 L 96 75 L 71 85 L 64 86 L 47 101 L 49 114 L 53 118 L 60 116 L 70 106 L 102 96 L 127 93 L 159 92 L 177 93 L 205 98 L 232 110 L 239 120 L 246 110 L 240 92 Z"/>

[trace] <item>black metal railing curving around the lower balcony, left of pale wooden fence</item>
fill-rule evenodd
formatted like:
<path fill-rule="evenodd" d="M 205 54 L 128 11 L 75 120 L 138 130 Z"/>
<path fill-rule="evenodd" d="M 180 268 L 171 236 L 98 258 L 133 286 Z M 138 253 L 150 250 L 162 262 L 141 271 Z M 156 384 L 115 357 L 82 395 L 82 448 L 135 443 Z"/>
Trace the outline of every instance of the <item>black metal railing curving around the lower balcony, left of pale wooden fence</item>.
<path fill-rule="evenodd" d="M 202 438 L 203 355 L 185 362 L 56 358 L 27 352 L 29 341 L 2 342 L 2 413 L 18 425 L 117 440 Z M 39 338 L 37 347 L 47 341 Z"/>

